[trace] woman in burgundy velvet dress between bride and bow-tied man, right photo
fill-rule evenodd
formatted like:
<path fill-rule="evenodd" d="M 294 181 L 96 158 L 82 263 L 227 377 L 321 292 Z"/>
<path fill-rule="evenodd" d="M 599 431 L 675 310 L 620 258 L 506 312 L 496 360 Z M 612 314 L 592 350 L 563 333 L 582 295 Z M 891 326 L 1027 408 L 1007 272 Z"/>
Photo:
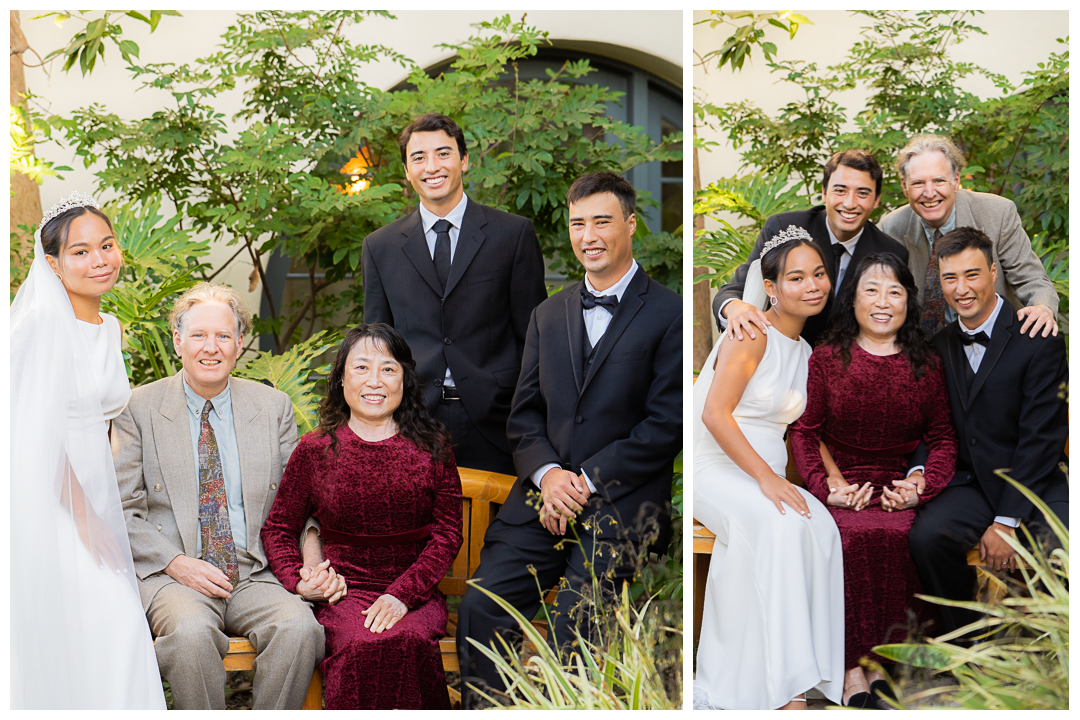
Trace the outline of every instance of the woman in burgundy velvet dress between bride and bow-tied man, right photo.
<path fill-rule="evenodd" d="M 846 705 L 874 707 L 878 691 L 888 694 L 859 660 L 904 639 L 919 589 L 907 532 L 915 508 L 944 489 L 956 464 L 945 377 L 919 329 L 916 294 L 895 256 L 859 263 L 810 356 L 806 411 L 788 431 L 807 489 L 843 543 Z M 907 476 L 920 440 L 924 471 Z"/>

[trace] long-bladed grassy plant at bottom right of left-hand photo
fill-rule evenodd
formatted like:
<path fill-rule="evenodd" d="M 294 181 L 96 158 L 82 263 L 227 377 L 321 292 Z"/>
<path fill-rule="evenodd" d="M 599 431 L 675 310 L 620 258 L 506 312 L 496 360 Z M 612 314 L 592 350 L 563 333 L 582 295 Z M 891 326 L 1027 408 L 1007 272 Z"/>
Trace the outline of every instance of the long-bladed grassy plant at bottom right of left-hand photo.
<path fill-rule="evenodd" d="M 524 663 L 507 642 L 497 652 L 469 639 L 478 652 L 495 664 L 507 685 L 501 697 L 517 709 L 549 710 L 663 710 L 681 706 L 681 683 L 665 688 L 664 673 L 658 665 L 657 644 L 663 636 L 679 637 L 664 626 L 649 603 L 634 607 L 623 587 L 618 602 L 603 607 L 595 637 L 586 640 L 575 631 L 576 652 L 564 665 L 543 636 L 513 606 L 473 581 L 470 585 L 495 600 L 517 622 L 537 654 Z M 539 588 L 538 588 L 538 592 Z M 550 619 L 549 619 L 550 620 Z M 662 655 L 662 653 L 659 653 Z M 681 653 L 676 651 L 678 656 Z M 505 656 L 511 657 L 507 660 Z M 680 662 L 675 666 L 680 669 Z M 495 698 L 481 693 L 490 702 Z"/>

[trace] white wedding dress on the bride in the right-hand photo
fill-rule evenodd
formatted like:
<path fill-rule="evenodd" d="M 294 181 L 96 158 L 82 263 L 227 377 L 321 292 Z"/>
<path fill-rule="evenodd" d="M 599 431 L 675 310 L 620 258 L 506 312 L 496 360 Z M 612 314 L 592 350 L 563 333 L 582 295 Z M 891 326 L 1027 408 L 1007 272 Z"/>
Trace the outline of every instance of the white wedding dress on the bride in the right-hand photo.
<path fill-rule="evenodd" d="M 784 476 L 784 432 L 806 407 L 810 345 L 775 328 L 734 419 Z M 811 688 L 839 704 L 843 690 L 840 533 L 800 489 L 810 518 L 781 515 L 702 422 L 721 337 L 694 384 L 693 515 L 716 533 L 705 587 L 694 707 L 773 709 Z"/>

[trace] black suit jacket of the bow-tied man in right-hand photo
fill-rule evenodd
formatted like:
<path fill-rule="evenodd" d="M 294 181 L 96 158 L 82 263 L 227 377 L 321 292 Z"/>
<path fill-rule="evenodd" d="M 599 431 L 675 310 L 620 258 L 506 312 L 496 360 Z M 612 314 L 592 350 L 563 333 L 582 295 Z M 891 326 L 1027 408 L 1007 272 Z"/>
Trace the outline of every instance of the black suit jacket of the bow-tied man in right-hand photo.
<path fill-rule="evenodd" d="M 1068 480 L 1058 467 L 1066 462 L 1068 409 L 1058 397 L 1068 381 L 1065 340 L 1021 334 L 1021 323 L 1007 301 L 998 314 L 990 343 L 967 391 L 968 356 L 957 337 L 959 321 L 934 336 L 944 359 L 953 422 L 960 441 L 957 473 L 949 485 L 976 480 L 995 515 L 1029 517 L 1034 506 L 994 471 L 1009 476 L 1048 502 L 1068 500 Z"/>

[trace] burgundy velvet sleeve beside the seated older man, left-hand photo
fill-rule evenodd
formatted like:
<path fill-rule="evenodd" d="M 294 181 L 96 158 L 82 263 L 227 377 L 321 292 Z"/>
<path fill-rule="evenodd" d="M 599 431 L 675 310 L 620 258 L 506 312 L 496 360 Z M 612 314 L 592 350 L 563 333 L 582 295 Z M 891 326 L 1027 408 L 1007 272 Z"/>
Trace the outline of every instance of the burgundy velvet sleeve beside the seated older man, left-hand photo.
<path fill-rule="evenodd" d="M 295 593 L 300 582 L 303 557 L 298 539 L 314 504 L 312 479 L 318 472 L 321 451 L 312 443 L 300 440 L 288 459 L 278 495 L 259 533 L 270 569 L 289 593 Z"/>

